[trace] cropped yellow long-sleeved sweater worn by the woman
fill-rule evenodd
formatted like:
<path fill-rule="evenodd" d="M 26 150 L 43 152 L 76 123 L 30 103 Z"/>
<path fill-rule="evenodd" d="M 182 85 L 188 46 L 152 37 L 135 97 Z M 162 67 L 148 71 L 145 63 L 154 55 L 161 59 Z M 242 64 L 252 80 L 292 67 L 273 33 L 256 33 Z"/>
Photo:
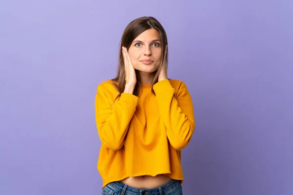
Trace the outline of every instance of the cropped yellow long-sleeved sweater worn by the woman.
<path fill-rule="evenodd" d="M 183 182 L 181 149 L 188 145 L 195 128 L 193 106 L 184 82 L 164 79 L 151 93 L 143 85 L 140 98 L 123 93 L 113 81 L 97 89 L 96 124 L 102 146 L 98 171 L 103 187 L 129 176 L 165 174 Z"/>

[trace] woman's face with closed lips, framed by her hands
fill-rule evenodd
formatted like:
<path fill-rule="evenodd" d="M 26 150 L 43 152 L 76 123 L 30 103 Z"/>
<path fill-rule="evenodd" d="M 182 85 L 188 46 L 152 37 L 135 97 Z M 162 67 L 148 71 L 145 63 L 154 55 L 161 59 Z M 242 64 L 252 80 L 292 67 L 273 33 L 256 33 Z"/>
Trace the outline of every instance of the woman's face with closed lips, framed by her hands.
<path fill-rule="evenodd" d="M 155 29 L 148 29 L 135 38 L 128 54 L 134 69 L 153 73 L 158 70 L 162 58 L 160 34 Z"/>

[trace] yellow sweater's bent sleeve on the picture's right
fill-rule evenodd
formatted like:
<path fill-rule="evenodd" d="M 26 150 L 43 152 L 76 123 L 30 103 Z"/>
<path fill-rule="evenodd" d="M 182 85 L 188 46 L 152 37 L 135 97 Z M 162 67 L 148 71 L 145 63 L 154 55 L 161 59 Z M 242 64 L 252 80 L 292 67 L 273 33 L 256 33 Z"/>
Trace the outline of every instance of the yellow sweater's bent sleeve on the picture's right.
<path fill-rule="evenodd" d="M 175 94 L 170 81 L 164 79 L 154 84 L 153 89 L 169 142 L 174 149 L 181 150 L 188 145 L 195 128 L 192 99 L 188 88 L 181 82 Z"/>

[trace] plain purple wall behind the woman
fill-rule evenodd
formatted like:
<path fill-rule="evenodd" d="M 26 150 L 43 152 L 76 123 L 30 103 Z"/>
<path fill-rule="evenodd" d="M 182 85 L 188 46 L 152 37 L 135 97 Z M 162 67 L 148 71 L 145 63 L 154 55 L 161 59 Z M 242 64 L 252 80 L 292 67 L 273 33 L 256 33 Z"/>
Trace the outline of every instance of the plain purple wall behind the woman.
<path fill-rule="evenodd" d="M 1 1 L 0 194 L 101 194 L 96 88 L 141 16 L 193 98 L 184 194 L 292 195 L 292 0 Z"/>

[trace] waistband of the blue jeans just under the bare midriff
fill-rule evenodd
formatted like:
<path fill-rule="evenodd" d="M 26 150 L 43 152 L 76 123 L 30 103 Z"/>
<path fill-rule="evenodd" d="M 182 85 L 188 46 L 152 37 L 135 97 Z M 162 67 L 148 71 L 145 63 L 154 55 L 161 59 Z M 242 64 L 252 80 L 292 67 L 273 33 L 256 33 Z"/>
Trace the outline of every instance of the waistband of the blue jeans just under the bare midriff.
<path fill-rule="evenodd" d="M 180 180 L 171 179 L 166 184 L 156 187 L 156 188 L 149 188 L 149 189 L 142 189 L 142 188 L 134 188 L 131 186 L 128 186 L 127 184 L 121 182 L 121 181 L 114 181 L 109 183 L 108 185 L 112 186 L 118 191 L 122 191 L 121 195 L 127 195 L 127 194 L 134 194 L 134 195 L 163 195 L 167 194 L 168 192 L 175 189 L 178 185 L 180 185 Z"/>

